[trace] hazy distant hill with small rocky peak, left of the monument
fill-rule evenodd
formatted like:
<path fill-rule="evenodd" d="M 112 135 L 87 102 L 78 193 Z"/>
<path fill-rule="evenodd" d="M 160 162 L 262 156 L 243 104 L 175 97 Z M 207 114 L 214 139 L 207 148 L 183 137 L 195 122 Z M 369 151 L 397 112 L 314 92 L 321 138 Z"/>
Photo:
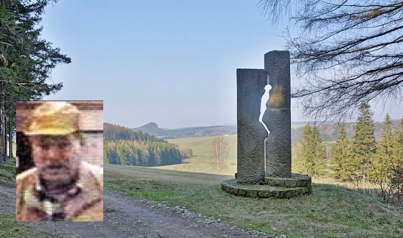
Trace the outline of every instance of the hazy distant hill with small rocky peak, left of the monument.
<path fill-rule="evenodd" d="M 200 137 L 200 136 L 217 136 L 217 135 L 233 135 L 236 134 L 236 125 L 234 126 L 200 126 L 185 127 L 179 129 L 159 128 L 155 122 L 150 122 L 138 128 L 131 128 L 134 131 L 141 131 L 151 135 L 164 138 L 183 138 L 183 137 Z"/>

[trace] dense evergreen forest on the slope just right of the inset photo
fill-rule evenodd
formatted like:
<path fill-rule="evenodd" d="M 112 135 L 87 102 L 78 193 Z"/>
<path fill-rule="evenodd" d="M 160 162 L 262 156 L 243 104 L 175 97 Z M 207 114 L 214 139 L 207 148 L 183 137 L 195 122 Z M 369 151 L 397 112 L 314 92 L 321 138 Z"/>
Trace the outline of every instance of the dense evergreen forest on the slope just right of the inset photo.
<path fill-rule="evenodd" d="M 180 163 L 177 145 L 141 131 L 104 123 L 104 164 L 165 166 Z"/>

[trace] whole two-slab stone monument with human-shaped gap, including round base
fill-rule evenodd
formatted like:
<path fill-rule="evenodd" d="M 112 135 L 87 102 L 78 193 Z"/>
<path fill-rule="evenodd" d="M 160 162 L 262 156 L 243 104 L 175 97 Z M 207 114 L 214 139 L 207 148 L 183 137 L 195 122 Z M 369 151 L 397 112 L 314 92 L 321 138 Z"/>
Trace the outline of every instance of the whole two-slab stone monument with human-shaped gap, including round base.
<path fill-rule="evenodd" d="M 264 54 L 264 69 L 237 69 L 236 74 L 237 173 L 221 189 L 262 198 L 311 193 L 311 178 L 291 173 L 290 53 L 270 51 Z"/>

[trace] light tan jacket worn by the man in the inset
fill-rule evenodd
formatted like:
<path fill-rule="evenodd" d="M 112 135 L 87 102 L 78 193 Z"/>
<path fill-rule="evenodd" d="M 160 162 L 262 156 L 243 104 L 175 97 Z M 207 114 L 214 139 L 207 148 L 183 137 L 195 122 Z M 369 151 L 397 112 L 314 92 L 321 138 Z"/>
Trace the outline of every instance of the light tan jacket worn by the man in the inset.
<path fill-rule="evenodd" d="M 17 176 L 17 221 L 103 221 L 102 169 L 82 162 L 63 202 L 46 195 L 36 168 Z"/>

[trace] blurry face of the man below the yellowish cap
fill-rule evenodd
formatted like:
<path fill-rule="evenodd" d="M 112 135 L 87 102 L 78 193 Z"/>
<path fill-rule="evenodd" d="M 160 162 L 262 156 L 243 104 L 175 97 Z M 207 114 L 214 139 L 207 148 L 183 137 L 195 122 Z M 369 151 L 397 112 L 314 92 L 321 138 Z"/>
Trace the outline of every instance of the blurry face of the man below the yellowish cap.
<path fill-rule="evenodd" d="M 35 135 L 30 138 L 35 166 L 42 179 L 67 183 L 78 172 L 80 142 L 69 135 Z"/>

